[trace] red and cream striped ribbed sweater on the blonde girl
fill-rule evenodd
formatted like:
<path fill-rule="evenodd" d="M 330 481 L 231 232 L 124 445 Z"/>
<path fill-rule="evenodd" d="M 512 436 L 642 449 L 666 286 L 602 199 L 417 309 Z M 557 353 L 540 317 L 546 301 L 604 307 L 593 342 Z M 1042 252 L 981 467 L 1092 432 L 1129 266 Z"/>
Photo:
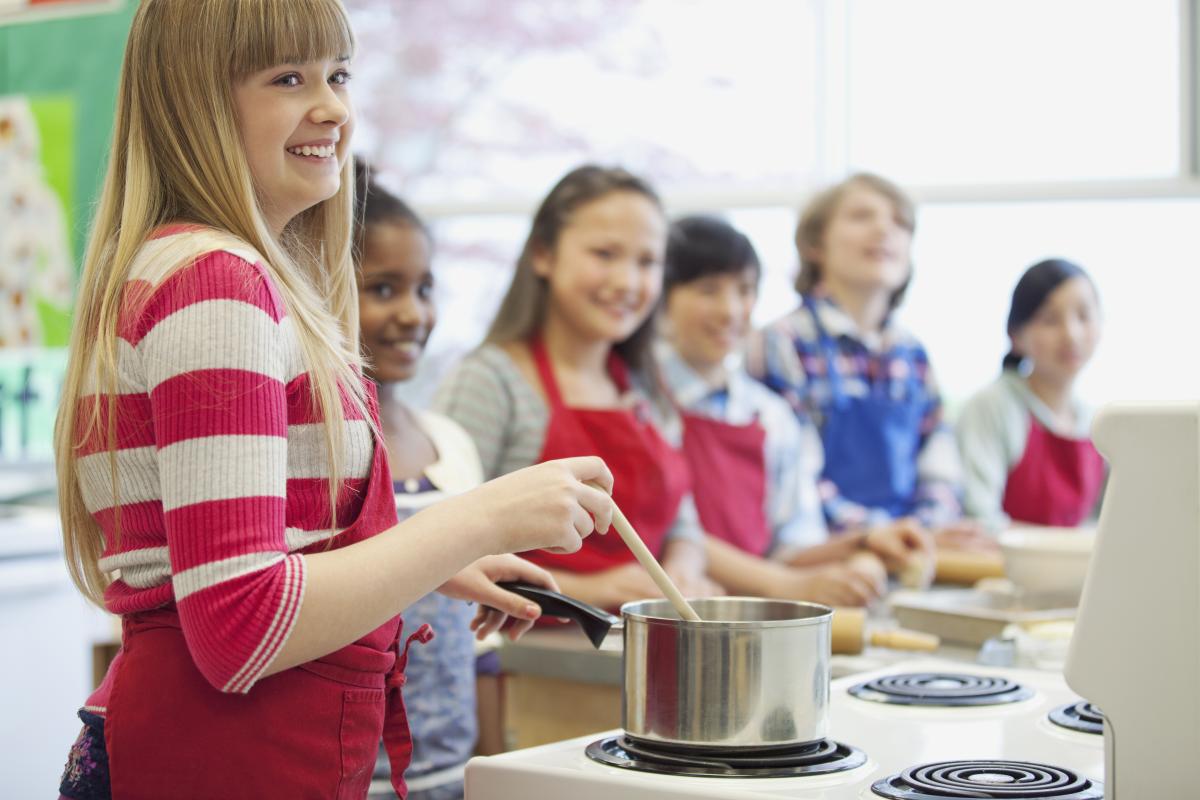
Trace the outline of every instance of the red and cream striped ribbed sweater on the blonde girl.
<path fill-rule="evenodd" d="M 300 554 L 330 537 L 325 435 L 299 338 L 257 254 L 196 228 L 143 246 L 118 337 L 115 399 L 89 385 L 78 401 L 83 413 L 100 403 L 102 420 L 110 403 L 118 413 L 116 497 L 107 426 L 78 461 L 104 531 L 100 566 L 115 578 L 106 604 L 174 609 L 205 679 L 247 692 L 295 624 Z M 373 455 L 349 407 L 344 426 L 338 525 L 361 507 Z"/>

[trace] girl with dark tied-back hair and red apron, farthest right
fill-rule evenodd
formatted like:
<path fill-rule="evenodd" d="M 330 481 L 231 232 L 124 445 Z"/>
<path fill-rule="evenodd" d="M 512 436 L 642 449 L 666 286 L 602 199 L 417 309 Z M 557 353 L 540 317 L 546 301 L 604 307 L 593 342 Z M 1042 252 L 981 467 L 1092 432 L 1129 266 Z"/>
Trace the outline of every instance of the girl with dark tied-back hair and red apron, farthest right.
<path fill-rule="evenodd" d="M 1062 259 L 1031 266 L 1013 290 L 1008 336 L 1000 378 L 959 420 L 966 511 L 991 530 L 1009 519 L 1078 525 L 1104 482 L 1104 459 L 1087 438 L 1091 415 L 1074 395 L 1100 338 L 1091 278 Z"/>

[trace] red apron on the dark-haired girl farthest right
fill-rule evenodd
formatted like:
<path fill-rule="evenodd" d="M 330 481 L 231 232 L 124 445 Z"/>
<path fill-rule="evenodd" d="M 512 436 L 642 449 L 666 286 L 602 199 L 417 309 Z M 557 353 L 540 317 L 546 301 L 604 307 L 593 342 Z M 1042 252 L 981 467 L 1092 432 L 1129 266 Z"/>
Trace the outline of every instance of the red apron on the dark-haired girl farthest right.
<path fill-rule="evenodd" d="M 1030 415 L 1025 453 L 1004 486 L 1014 522 L 1074 527 L 1087 519 L 1104 483 L 1104 457 L 1087 439 L 1051 433 Z"/>

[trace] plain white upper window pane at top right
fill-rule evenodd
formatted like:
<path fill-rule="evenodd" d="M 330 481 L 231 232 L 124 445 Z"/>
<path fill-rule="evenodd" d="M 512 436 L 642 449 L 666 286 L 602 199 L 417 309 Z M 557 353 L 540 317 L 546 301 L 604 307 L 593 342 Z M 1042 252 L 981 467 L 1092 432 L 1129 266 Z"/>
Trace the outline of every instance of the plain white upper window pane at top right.
<path fill-rule="evenodd" d="M 848 157 L 901 184 L 1180 169 L 1177 0 L 853 0 Z"/>

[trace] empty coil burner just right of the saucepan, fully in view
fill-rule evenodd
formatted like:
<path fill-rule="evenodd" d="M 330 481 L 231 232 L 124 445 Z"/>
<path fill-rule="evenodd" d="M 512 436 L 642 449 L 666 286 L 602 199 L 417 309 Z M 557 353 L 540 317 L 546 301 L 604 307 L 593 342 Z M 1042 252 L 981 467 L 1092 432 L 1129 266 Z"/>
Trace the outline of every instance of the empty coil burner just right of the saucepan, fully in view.
<path fill-rule="evenodd" d="M 1033 697 L 1007 678 L 961 673 L 904 673 L 858 684 L 850 693 L 875 703 L 899 705 L 1001 705 Z"/>

